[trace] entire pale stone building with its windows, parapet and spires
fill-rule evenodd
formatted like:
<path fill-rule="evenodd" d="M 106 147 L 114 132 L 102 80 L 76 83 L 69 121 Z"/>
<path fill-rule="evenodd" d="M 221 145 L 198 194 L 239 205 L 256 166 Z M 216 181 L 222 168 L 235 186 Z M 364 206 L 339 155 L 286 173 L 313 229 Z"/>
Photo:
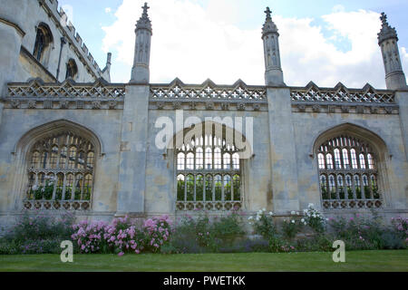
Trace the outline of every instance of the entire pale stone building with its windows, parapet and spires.
<path fill-rule="evenodd" d="M 384 14 L 386 90 L 287 86 L 269 8 L 265 85 L 151 83 L 148 5 L 131 80 L 111 83 L 111 54 L 100 70 L 57 5 L 0 0 L 0 225 L 24 210 L 282 218 L 309 203 L 407 216 L 408 89 Z"/>

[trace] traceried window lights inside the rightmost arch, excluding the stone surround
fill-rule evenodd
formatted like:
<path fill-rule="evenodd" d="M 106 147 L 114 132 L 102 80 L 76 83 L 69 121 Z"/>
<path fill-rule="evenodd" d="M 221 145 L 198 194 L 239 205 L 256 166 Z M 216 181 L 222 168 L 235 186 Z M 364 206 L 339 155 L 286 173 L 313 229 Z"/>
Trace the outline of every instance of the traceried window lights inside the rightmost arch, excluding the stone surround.
<path fill-rule="evenodd" d="M 341 135 L 321 144 L 316 156 L 324 208 L 382 206 L 376 154 L 367 142 Z"/>

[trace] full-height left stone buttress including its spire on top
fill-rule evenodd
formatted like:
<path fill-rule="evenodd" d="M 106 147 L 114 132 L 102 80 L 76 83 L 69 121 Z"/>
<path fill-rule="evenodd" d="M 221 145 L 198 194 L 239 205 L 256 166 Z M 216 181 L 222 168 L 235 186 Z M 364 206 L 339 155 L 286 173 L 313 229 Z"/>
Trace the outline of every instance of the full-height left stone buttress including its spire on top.
<path fill-rule="evenodd" d="M 146 152 L 148 144 L 151 21 L 145 3 L 136 24 L 136 43 L 131 82 L 126 87 L 121 124 L 121 160 L 117 216 L 145 212 Z"/>

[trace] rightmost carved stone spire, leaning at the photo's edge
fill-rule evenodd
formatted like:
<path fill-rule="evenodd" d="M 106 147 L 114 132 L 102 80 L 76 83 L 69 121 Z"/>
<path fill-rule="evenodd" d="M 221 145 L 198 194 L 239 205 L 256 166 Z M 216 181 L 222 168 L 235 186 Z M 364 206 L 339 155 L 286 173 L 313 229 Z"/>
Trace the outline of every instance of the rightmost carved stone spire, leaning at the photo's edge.
<path fill-rule="evenodd" d="M 400 53 L 398 50 L 398 36 L 394 27 L 387 22 L 387 15 L 381 14 L 381 31 L 378 34 L 378 45 L 383 54 L 385 83 L 387 89 L 406 89 L 406 79 L 403 74 Z"/>

